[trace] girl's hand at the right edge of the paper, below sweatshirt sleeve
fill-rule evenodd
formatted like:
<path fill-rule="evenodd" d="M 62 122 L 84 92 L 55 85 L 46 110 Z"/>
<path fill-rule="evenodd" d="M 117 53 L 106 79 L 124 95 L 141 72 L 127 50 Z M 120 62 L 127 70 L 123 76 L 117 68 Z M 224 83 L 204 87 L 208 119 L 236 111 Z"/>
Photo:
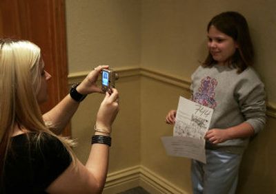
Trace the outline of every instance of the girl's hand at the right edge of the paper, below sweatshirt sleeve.
<path fill-rule="evenodd" d="M 218 144 L 229 140 L 227 129 L 210 129 L 206 132 L 205 139 L 213 144 Z"/>

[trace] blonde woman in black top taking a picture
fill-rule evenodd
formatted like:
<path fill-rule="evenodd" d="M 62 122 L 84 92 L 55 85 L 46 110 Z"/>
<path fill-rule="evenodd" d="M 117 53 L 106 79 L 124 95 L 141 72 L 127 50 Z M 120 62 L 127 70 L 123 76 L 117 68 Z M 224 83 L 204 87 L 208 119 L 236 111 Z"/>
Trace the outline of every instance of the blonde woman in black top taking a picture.
<path fill-rule="evenodd" d="M 101 92 L 96 81 L 104 68 L 108 66 L 96 67 L 42 115 L 39 104 L 47 100 L 51 76 L 39 47 L 29 41 L 0 40 L 0 193 L 101 193 L 111 125 L 119 110 L 117 90 L 106 93 L 99 107 L 85 165 L 72 153 L 72 141 L 58 134 L 87 94 Z"/>

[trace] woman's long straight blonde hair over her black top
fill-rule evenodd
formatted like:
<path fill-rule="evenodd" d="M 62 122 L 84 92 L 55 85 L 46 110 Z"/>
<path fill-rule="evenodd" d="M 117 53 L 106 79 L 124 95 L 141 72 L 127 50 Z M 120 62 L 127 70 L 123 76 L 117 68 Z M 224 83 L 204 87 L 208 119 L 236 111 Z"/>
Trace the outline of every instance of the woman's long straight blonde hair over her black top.
<path fill-rule="evenodd" d="M 34 43 L 0 40 L 1 171 L 15 125 L 18 125 L 19 129 L 27 129 L 38 134 L 45 132 L 57 137 L 73 156 L 70 141 L 56 136 L 43 121 L 37 102 L 41 83 L 40 60 L 41 50 Z M 37 142 L 40 141 L 39 137 L 42 136 L 38 136 Z"/>

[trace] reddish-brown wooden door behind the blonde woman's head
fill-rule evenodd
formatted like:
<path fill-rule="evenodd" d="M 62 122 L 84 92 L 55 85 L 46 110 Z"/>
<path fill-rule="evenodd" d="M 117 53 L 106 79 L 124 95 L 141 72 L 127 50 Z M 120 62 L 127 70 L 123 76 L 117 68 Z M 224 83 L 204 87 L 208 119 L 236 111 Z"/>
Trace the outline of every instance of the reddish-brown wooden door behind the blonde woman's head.
<path fill-rule="evenodd" d="M 0 0 L 0 37 L 39 45 L 46 71 L 52 75 L 42 112 L 68 94 L 65 24 L 65 0 Z M 70 136 L 69 127 L 63 135 Z"/>

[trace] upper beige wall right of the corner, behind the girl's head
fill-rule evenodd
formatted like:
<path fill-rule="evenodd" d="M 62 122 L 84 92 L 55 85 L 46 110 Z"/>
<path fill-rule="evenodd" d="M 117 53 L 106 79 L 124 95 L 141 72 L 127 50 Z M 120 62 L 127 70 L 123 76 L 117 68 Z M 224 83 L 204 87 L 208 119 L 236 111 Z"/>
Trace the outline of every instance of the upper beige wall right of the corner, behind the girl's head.
<path fill-rule="evenodd" d="M 235 10 L 248 20 L 255 45 L 255 69 L 266 83 L 268 100 L 276 104 L 275 1 L 142 1 L 141 67 L 190 80 L 203 61 L 206 25 L 219 12 Z"/>

